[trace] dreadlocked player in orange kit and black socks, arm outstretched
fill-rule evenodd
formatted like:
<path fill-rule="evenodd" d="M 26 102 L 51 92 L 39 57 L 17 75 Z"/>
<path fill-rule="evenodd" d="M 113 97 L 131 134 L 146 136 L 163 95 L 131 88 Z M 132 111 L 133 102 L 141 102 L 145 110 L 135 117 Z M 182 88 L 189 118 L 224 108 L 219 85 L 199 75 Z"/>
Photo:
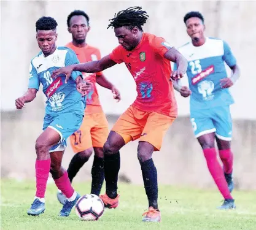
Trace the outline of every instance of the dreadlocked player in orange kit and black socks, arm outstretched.
<path fill-rule="evenodd" d="M 66 74 L 68 79 L 72 71 L 99 72 L 117 63 L 126 64 L 136 82 L 138 96 L 117 120 L 104 144 L 106 194 L 101 199 L 106 207 L 118 206 L 119 150 L 131 140 L 139 139 L 138 159 L 149 200 L 149 210 L 143 214 L 142 221 L 159 222 L 157 169 L 152 154 L 160 150 L 163 136 L 177 117 L 173 84 L 169 79 L 183 77 L 187 59 L 162 37 L 143 32 L 142 26 L 149 17 L 146 13 L 141 7 L 118 12 L 108 26 L 114 27 L 120 44 L 112 53 L 98 61 L 57 69 L 52 77 Z M 171 71 L 170 61 L 177 64 L 176 71 Z"/>

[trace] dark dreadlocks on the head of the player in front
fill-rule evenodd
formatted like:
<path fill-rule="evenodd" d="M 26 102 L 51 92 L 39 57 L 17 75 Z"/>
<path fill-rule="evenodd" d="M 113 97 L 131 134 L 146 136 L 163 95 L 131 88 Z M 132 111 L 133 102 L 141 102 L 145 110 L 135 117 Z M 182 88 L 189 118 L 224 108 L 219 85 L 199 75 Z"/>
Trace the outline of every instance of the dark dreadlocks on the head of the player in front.
<path fill-rule="evenodd" d="M 107 29 L 109 27 L 119 28 L 122 26 L 127 26 L 129 29 L 133 29 L 134 26 L 137 26 L 139 30 L 143 31 L 142 26 L 147 21 L 147 18 L 149 18 L 149 15 L 141 9 L 142 7 L 140 6 L 134 6 L 115 13 L 114 18 L 109 19 L 111 23 L 107 26 Z"/>

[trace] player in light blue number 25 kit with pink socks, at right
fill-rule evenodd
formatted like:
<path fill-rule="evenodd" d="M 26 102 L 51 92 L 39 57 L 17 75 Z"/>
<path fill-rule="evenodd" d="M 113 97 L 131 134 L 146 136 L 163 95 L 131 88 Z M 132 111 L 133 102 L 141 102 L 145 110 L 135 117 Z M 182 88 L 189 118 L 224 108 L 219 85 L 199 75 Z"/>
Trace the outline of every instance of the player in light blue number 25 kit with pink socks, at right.
<path fill-rule="evenodd" d="M 200 12 L 189 12 L 184 17 L 187 34 L 192 41 L 179 48 L 188 60 L 189 88 L 180 80 L 174 88 L 185 98 L 190 96 L 190 118 L 214 182 L 225 201 L 219 209 L 233 209 L 233 153 L 230 150 L 232 120 L 230 105 L 233 98 L 228 88 L 238 79 L 240 71 L 227 42 L 204 36 L 204 18 Z M 227 76 L 225 63 L 232 70 Z M 175 65 L 174 65 L 175 69 Z M 217 161 L 215 140 L 223 169 Z"/>

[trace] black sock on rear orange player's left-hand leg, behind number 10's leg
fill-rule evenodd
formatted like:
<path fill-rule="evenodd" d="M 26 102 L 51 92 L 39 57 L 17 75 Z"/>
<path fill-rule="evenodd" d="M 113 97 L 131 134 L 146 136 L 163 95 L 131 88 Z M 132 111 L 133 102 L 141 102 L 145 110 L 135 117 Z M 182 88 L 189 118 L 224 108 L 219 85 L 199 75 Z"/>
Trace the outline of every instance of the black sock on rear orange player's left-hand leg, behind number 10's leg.
<path fill-rule="evenodd" d="M 73 158 L 71 159 L 69 166 L 68 166 L 68 178 L 70 182 L 72 183 L 72 180 L 74 177 L 76 177 L 77 172 L 80 170 L 80 168 L 85 164 L 85 162 L 88 161 L 89 158 L 80 156 L 79 153 L 76 153 Z"/>

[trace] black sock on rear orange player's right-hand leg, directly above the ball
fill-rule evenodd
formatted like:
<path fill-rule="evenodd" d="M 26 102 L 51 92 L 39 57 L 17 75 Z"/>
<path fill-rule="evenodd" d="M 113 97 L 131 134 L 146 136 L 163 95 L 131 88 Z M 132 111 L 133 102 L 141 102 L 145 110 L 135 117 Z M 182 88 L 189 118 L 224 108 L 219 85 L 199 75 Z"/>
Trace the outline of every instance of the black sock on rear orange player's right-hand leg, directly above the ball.
<path fill-rule="evenodd" d="M 91 167 L 91 194 L 99 196 L 104 181 L 104 159 L 94 156 Z"/>

